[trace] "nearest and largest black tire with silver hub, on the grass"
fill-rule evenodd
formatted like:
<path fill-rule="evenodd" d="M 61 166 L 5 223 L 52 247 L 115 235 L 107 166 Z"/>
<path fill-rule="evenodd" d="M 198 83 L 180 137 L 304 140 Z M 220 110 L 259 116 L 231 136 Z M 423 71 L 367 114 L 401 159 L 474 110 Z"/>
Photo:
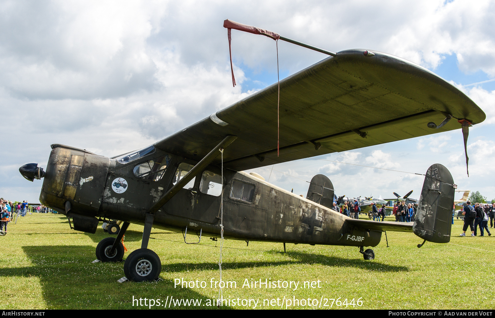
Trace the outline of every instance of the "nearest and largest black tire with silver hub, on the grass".
<path fill-rule="evenodd" d="M 160 258 L 148 249 L 138 249 L 132 252 L 124 263 L 124 274 L 130 281 L 156 280 L 160 272 Z"/>

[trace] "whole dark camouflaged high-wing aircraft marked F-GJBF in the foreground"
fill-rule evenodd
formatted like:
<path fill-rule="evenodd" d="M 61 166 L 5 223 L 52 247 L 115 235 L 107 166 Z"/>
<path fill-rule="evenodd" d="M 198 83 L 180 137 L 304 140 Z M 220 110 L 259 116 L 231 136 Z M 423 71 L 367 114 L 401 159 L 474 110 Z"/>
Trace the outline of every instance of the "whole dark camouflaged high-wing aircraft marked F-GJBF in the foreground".
<path fill-rule="evenodd" d="M 485 113 L 465 94 L 387 53 L 333 53 L 280 81 L 279 156 L 277 94 L 271 85 L 113 158 L 54 144 L 46 172 L 36 163 L 20 171 L 31 181 L 44 177 L 40 202 L 72 218 L 77 231 L 95 233 L 99 221 L 123 221 L 116 238 L 99 242 L 102 262 L 122 260 L 129 224 L 144 225 L 141 249 L 124 263 L 133 281 L 160 273 L 160 259 L 148 249 L 152 227 L 183 232 L 185 240 L 187 234 L 216 238 L 222 217 L 228 239 L 355 246 L 364 259 L 375 257 L 364 247 L 378 245 L 383 231 L 450 240 L 455 185 L 441 164 L 426 172 L 414 223 L 352 219 L 331 210 L 334 190 L 326 176 L 313 178 L 309 200 L 243 170 L 459 129 L 458 120 L 482 122 Z"/>

